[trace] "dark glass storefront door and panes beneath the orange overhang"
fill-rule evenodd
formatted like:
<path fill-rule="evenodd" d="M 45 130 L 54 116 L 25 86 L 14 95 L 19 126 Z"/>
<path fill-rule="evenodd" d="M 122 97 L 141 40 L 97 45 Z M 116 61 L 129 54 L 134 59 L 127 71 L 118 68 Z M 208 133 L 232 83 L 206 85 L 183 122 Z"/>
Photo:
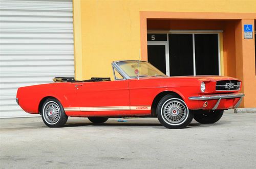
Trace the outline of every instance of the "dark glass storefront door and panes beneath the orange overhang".
<path fill-rule="evenodd" d="M 147 59 L 167 76 L 221 74 L 219 33 L 170 31 L 165 39 L 160 35 L 148 34 Z"/>

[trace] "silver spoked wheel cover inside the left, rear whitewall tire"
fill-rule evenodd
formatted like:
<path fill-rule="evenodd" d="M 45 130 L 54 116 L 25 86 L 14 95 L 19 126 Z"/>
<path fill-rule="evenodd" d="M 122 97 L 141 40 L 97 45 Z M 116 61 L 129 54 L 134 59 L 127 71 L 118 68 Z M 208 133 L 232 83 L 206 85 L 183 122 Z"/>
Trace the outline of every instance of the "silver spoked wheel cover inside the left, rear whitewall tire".
<path fill-rule="evenodd" d="M 58 122 L 60 117 L 60 108 L 55 102 L 48 102 L 44 107 L 44 116 L 45 119 L 50 124 L 54 124 Z"/>

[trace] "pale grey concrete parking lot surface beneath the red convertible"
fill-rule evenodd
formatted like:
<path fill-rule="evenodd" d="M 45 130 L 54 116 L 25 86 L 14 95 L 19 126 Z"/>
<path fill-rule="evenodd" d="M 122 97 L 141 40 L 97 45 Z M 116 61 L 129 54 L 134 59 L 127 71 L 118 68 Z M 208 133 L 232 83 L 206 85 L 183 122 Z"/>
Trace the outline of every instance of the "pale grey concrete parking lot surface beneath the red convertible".
<path fill-rule="evenodd" d="M 256 113 L 226 111 L 216 124 L 166 129 L 157 118 L 0 119 L 1 168 L 255 168 Z"/>

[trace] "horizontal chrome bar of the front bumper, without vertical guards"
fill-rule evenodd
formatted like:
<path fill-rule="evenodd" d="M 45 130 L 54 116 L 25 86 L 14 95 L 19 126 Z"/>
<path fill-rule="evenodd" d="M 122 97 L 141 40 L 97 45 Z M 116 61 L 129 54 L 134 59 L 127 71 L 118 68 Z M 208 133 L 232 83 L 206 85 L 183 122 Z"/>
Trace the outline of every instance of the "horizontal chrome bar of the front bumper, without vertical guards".
<path fill-rule="evenodd" d="M 188 100 L 205 101 L 205 100 L 214 100 L 214 99 L 242 98 L 243 96 L 244 96 L 243 93 L 209 94 L 209 95 L 202 95 L 202 96 L 191 96 L 188 98 Z"/>

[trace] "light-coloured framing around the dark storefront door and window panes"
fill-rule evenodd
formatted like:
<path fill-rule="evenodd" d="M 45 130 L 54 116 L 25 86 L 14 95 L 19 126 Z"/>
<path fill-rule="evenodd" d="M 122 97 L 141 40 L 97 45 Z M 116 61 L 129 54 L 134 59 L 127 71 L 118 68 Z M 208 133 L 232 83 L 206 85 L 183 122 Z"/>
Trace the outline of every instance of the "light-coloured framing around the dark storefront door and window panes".
<path fill-rule="evenodd" d="M 167 47 L 168 47 L 168 61 L 169 61 L 169 34 L 192 34 L 193 36 L 193 75 L 196 76 L 196 50 L 195 50 L 195 34 L 217 34 L 218 35 L 218 66 L 219 66 L 219 76 L 222 75 L 222 60 L 221 60 L 221 43 L 220 43 L 220 34 L 223 32 L 223 30 L 148 30 L 148 33 L 151 34 L 166 34 L 167 36 Z M 165 41 L 159 41 L 159 42 L 165 42 Z M 158 41 L 147 41 L 147 45 L 149 43 L 159 43 Z M 165 53 L 166 53 L 166 48 L 165 48 Z M 165 59 L 166 61 L 166 59 Z M 167 62 L 166 62 L 167 63 Z M 169 76 L 169 62 L 168 62 L 168 67 L 166 64 L 166 72 L 168 71 Z"/>

